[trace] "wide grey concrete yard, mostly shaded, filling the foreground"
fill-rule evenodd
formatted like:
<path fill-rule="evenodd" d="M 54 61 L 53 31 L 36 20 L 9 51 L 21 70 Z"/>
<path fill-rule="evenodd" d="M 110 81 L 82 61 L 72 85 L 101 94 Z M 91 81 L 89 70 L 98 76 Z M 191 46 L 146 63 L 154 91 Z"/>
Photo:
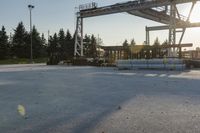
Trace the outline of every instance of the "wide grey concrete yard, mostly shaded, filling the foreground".
<path fill-rule="evenodd" d="M 0 133 L 199 132 L 200 70 L 0 66 Z"/>

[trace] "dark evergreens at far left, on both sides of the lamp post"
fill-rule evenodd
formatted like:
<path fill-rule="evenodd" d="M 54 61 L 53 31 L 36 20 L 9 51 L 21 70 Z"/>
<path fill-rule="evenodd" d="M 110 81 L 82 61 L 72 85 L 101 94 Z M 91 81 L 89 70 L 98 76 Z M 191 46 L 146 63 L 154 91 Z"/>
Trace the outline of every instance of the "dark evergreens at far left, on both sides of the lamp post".
<path fill-rule="evenodd" d="M 46 40 L 44 34 L 33 26 L 33 53 L 34 58 L 46 57 Z M 8 36 L 5 27 L 0 30 L 0 59 L 8 58 L 30 58 L 30 33 L 28 33 L 22 22 L 14 29 L 14 34 Z"/>

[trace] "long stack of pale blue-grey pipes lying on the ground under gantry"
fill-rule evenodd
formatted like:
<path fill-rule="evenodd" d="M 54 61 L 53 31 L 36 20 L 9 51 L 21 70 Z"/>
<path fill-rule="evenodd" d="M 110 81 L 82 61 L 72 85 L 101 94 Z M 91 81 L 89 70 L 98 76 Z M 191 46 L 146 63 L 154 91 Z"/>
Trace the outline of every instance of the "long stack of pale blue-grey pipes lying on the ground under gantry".
<path fill-rule="evenodd" d="M 118 69 L 160 69 L 160 70 L 184 70 L 186 65 L 182 59 L 141 59 L 141 60 L 118 60 Z"/>

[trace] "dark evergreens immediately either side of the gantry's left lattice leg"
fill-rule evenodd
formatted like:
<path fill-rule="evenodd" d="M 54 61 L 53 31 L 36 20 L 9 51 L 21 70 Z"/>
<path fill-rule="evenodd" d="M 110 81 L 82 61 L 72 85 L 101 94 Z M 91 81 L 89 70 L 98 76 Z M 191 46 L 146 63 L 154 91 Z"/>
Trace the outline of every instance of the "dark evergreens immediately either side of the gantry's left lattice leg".
<path fill-rule="evenodd" d="M 83 52 L 85 58 L 97 57 L 97 40 L 94 35 L 85 35 Z M 75 35 L 71 35 L 69 30 L 65 34 L 61 29 L 59 33 L 50 36 L 49 45 L 47 47 L 50 64 L 57 64 L 61 60 L 71 60 L 74 57 Z"/>

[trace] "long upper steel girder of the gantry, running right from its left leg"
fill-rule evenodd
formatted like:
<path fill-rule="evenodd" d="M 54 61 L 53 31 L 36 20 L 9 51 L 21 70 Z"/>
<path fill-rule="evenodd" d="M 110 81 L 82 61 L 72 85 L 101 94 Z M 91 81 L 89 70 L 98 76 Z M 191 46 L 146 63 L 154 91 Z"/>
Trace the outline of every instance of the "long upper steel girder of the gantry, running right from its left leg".
<path fill-rule="evenodd" d="M 109 15 L 114 13 L 121 13 L 121 12 L 129 12 L 132 10 L 143 10 L 143 9 L 149 9 L 154 7 L 161 7 L 170 5 L 170 3 L 173 1 L 174 4 L 182 4 L 182 3 L 190 3 L 194 1 L 200 1 L 200 0 L 152 0 L 152 1 L 146 1 L 146 2 L 137 2 L 137 1 L 129 1 L 125 3 L 117 3 L 110 6 L 104 6 L 99 7 L 96 9 L 89 9 L 89 10 L 83 10 L 80 11 L 80 16 L 83 18 L 86 17 L 96 17 L 101 15 Z"/>

